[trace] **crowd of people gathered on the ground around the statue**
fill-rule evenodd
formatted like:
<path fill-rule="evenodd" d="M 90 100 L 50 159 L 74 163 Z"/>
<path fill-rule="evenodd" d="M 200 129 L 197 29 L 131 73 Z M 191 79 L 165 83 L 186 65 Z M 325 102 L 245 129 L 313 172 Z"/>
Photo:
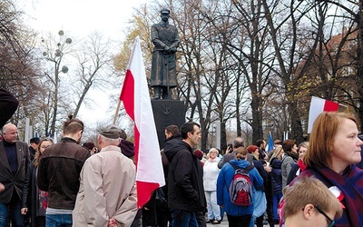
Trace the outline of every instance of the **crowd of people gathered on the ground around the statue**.
<path fill-rule="evenodd" d="M 309 142 L 277 140 L 270 153 L 264 140 L 246 145 L 242 137 L 224 155 L 202 153 L 198 123 L 170 125 L 161 151 L 166 185 L 137 209 L 133 143 L 118 126 L 99 126 L 97 143 L 81 145 L 83 122 L 70 116 L 59 143 L 32 138 L 28 145 L 6 123 L 17 104 L 8 106 L 0 114 L 0 227 L 205 227 L 223 218 L 230 227 L 363 223 L 363 142 L 351 114 L 319 114 Z M 248 198 L 237 202 L 231 188 L 241 173 L 240 187 L 250 191 L 236 192 Z"/>

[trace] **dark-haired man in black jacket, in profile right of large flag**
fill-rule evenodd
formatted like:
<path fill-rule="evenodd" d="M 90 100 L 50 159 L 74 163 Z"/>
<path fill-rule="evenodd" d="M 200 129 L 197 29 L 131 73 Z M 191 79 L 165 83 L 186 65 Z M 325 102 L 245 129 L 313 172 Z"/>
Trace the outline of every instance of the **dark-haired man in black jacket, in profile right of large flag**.
<path fill-rule="evenodd" d="M 168 206 L 172 212 L 172 226 L 198 227 L 196 213 L 205 211 L 203 170 L 192 148 L 201 140 L 198 123 L 188 122 L 181 127 L 182 140 L 165 152 L 169 165 Z"/>

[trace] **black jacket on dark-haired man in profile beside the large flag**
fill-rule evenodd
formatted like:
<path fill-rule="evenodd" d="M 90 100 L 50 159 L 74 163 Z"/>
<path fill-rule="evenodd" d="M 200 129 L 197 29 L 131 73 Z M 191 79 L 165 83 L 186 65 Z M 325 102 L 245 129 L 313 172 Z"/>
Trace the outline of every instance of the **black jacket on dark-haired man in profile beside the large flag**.
<path fill-rule="evenodd" d="M 191 146 L 177 141 L 165 153 L 169 166 L 168 206 L 170 209 L 204 212 L 206 200 L 203 187 L 203 169 Z"/>

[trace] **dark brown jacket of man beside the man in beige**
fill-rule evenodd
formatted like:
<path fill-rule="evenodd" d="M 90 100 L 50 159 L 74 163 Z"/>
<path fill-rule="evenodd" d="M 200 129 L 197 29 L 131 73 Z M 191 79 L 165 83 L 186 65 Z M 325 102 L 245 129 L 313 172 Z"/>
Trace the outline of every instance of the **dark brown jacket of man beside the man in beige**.
<path fill-rule="evenodd" d="M 62 138 L 60 143 L 45 149 L 38 166 L 37 184 L 49 194 L 48 207 L 74 210 L 80 173 L 90 155 L 71 138 Z"/>

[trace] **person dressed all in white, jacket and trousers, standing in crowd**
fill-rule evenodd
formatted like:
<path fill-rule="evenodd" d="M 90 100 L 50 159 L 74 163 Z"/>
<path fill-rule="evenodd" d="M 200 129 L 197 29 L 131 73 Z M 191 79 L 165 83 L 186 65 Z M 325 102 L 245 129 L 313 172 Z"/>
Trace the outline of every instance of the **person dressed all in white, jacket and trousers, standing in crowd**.
<path fill-rule="evenodd" d="M 218 154 L 216 148 L 211 148 L 207 155 L 208 159 L 203 165 L 203 184 L 208 210 L 206 222 L 214 224 L 221 223 L 221 209 L 217 204 L 217 178 L 221 171 L 218 168 L 220 162 Z"/>

